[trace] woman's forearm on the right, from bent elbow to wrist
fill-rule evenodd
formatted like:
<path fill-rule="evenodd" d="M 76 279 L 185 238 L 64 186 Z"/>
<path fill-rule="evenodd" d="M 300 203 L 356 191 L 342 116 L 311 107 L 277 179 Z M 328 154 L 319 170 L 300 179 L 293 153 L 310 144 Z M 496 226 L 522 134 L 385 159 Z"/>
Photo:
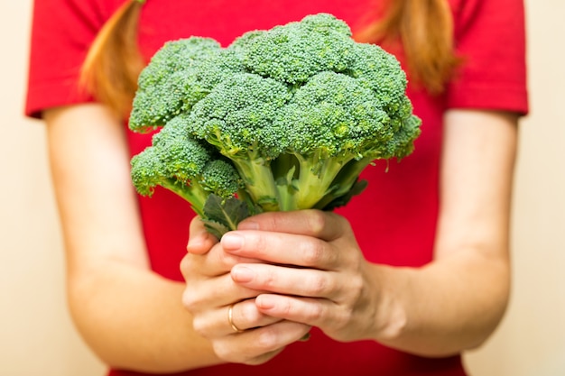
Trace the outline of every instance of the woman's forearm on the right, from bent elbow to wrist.
<path fill-rule="evenodd" d="M 504 315 L 510 289 L 505 260 L 459 252 L 421 269 L 373 265 L 381 285 L 375 340 L 423 356 L 477 347 Z"/>

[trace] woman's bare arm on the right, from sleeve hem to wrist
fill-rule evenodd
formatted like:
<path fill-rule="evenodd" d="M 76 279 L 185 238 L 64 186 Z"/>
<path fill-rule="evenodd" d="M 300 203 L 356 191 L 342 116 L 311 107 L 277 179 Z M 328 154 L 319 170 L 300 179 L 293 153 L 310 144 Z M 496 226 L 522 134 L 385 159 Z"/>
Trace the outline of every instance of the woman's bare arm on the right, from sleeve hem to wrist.
<path fill-rule="evenodd" d="M 386 343 L 457 353 L 482 344 L 504 315 L 516 122 L 478 111 L 446 116 L 436 260 L 421 271 L 385 273 L 407 286 L 394 291 L 406 326 Z"/>

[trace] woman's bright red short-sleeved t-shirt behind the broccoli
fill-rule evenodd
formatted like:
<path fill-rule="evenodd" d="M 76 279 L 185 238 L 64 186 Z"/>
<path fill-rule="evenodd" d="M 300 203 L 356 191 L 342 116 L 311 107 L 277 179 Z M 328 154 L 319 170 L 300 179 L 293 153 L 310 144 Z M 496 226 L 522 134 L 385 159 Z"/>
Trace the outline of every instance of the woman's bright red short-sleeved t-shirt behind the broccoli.
<path fill-rule="evenodd" d="M 165 41 L 198 35 L 227 45 L 243 32 L 271 28 L 319 12 L 335 14 L 355 32 L 366 24 L 366 10 L 374 1 L 149 0 L 141 15 L 139 41 L 149 59 Z M 45 108 L 91 100 L 77 90 L 79 67 L 97 30 L 122 3 L 123 0 L 36 2 L 27 115 L 40 117 Z M 431 97 L 409 86 L 414 113 L 422 119 L 416 150 L 401 163 L 377 163 L 366 170 L 366 191 L 338 210 L 353 225 L 369 261 L 414 267 L 431 261 L 439 205 L 442 115 L 446 109 L 499 109 L 521 114 L 528 111 L 523 2 L 449 3 L 454 14 L 457 50 L 465 59 L 463 69 L 444 96 Z M 132 155 L 151 142 L 143 134 L 128 132 L 128 137 Z M 152 198 L 140 197 L 139 205 L 153 270 L 171 280 L 181 280 L 179 263 L 193 216 L 190 207 L 164 189 L 157 189 Z M 288 346 L 261 366 L 226 364 L 182 374 L 456 376 L 465 372 L 458 356 L 426 359 L 371 341 L 341 344 L 314 331 L 310 341 Z"/>

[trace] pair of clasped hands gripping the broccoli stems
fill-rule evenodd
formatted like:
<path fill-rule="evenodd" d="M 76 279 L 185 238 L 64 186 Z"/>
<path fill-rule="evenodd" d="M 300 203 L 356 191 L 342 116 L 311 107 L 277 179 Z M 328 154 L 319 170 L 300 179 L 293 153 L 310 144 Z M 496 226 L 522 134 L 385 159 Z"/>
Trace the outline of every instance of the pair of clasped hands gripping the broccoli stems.
<path fill-rule="evenodd" d="M 226 362 L 266 362 L 311 326 L 344 342 L 373 331 L 375 283 L 341 216 L 265 213 L 219 243 L 197 219 L 187 249 L 184 306 Z"/>

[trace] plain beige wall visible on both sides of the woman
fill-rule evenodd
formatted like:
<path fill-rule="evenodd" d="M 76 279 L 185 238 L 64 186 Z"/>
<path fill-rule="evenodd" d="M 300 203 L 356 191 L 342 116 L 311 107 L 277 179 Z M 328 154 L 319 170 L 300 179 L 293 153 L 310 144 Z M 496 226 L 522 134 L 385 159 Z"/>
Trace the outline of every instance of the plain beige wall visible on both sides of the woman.
<path fill-rule="evenodd" d="M 474 376 L 565 375 L 565 1 L 526 5 L 532 115 L 514 195 L 514 295 L 466 358 Z M 102 375 L 66 312 L 44 130 L 21 115 L 30 15 L 31 0 L 0 1 L 0 376 Z"/>

